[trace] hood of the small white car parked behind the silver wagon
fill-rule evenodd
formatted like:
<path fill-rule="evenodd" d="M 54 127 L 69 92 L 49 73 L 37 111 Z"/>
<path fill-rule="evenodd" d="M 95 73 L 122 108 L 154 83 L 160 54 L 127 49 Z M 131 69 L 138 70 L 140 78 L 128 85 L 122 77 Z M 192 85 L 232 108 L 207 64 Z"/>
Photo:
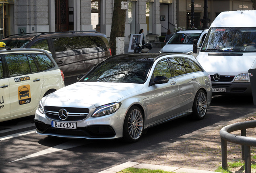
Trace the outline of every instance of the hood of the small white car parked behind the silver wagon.
<path fill-rule="evenodd" d="M 165 46 L 163 46 L 163 53 L 188 53 L 192 50 L 192 44 L 165 44 Z"/>

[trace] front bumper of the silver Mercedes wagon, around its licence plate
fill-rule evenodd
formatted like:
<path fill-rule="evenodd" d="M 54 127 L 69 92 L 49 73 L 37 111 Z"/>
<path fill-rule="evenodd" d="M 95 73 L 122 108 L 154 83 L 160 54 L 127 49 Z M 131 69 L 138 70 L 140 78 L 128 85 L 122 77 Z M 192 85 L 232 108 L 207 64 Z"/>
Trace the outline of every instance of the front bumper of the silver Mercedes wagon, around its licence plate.
<path fill-rule="evenodd" d="M 122 138 L 125 109 L 119 109 L 111 115 L 87 118 L 76 122 L 76 129 L 60 129 L 51 125 L 52 120 L 41 114 L 35 113 L 36 133 L 64 138 L 83 138 L 83 139 L 117 139 Z"/>

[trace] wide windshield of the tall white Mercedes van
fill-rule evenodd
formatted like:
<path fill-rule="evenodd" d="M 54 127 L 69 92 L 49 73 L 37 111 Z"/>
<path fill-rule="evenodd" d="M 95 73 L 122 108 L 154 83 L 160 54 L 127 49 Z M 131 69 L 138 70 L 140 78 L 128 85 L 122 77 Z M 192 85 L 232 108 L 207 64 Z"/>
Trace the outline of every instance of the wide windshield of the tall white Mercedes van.
<path fill-rule="evenodd" d="M 256 27 L 210 28 L 202 52 L 256 52 Z"/>

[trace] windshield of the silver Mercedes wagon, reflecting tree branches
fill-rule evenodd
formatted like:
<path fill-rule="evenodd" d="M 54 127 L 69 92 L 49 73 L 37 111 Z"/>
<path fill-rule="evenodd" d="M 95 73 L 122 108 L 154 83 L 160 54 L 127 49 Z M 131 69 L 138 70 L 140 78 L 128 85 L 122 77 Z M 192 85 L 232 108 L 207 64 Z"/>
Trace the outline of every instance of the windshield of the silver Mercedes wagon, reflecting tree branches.
<path fill-rule="evenodd" d="M 110 58 L 83 77 L 83 82 L 121 82 L 142 84 L 153 64 L 148 58 Z"/>

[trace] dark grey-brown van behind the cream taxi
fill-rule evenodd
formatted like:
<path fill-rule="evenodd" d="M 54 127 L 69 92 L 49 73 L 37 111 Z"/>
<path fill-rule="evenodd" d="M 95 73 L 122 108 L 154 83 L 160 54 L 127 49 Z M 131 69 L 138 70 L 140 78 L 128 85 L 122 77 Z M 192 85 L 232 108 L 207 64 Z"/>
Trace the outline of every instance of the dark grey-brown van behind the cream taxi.
<path fill-rule="evenodd" d="M 111 56 L 105 34 L 99 32 L 40 32 L 10 35 L 1 40 L 10 48 L 41 48 L 52 52 L 65 76 L 65 85 L 77 82 L 99 62 Z"/>

